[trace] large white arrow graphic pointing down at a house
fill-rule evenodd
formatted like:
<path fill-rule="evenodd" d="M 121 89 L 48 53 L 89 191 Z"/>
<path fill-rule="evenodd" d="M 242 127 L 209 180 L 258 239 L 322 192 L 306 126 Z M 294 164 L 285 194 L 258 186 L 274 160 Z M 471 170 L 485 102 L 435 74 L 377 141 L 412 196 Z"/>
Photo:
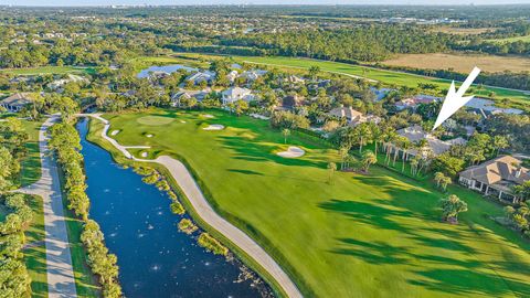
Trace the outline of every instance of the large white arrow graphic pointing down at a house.
<path fill-rule="evenodd" d="M 442 125 L 447 118 L 453 116 L 460 107 L 465 106 L 467 102 L 471 100 L 471 96 L 463 97 L 466 91 L 471 86 L 473 81 L 477 78 L 478 74 L 480 73 L 480 68 L 475 67 L 473 68 L 469 76 L 464 81 L 458 92 L 455 88 L 455 81 L 451 83 L 449 92 L 445 97 L 444 104 L 442 105 L 442 109 L 439 110 L 438 118 L 436 118 L 436 123 L 434 124 L 433 130 L 436 129 L 439 125 Z"/>

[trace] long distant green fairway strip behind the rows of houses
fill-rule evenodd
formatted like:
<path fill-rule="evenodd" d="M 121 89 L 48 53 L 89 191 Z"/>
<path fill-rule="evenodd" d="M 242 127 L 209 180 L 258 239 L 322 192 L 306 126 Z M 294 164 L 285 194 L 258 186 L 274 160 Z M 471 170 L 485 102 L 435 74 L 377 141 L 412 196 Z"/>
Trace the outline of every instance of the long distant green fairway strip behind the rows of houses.
<path fill-rule="evenodd" d="M 219 55 L 205 55 L 205 54 L 179 54 L 182 56 L 189 56 L 194 58 L 200 57 L 210 57 L 210 58 L 221 58 L 223 56 Z M 360 76 L 369 79 L 375 79 L 389 85 L 396 86 L 407 86 L 407 87 L 417 87 L 420 83 L 423 84 L 434 84 L 441 89 L 448 89 L 451 86 L 449 79 L 435 78 L 421 76 L 415 74 L 402 73 L 402 72 L 392 72 L 372 67 L 365 67 L 360 65 L 331 62 L 331 61 L 321 61 L 321 60 L 310 60 L 310 58 L 297 58 L 297 57 L 263 57 L 263 56 L 232 56 L 237 62 L 247 62 L 255 64 L 269 65 L 283 70 L 309 70 L 311 66 L 319 66 L 321 71 L 342 74 L 349 76 Z M 501 87 L 485 87 L 480 93 L 476 93 L 477 96 L 487 97 L 489 92 L 496 94 L 494 99 L 508 98 L 510 105 L 516 108 L 528 109 L 528 102 L 530 100 L 530 92 L 513 91 Z"/>

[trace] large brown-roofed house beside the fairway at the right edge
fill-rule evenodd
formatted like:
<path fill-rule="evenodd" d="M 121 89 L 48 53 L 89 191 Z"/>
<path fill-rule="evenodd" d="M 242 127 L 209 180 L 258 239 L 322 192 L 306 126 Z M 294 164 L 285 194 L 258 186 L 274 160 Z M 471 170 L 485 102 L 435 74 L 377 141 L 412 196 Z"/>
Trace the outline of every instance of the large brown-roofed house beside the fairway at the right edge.
<path fill-rule="evenodd" d="M 484 195 L 517 203 L 512 188 L 529 180 L 530 171 L 521 166 L 521 160 L 504 156 L 467 168 L 460 172 L 458 182 Z"/>

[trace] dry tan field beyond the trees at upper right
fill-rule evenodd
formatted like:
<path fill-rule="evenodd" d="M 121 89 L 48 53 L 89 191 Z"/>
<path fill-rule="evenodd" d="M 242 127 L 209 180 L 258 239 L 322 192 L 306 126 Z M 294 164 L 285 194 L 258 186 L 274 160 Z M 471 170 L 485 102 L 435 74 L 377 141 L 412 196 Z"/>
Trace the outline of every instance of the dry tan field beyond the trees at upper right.
<path fill-rule="evenodd" d="M 382 62 L 391 66 L 406 66 L 424 70 L 453 68 L 459 73 L 469 73 L 474 66 L 484 72 L 524 72 L 530 70 L 530 58 L 508 57 L 494 55 L 462 55 L 462 54 L 401 54 Z"/>

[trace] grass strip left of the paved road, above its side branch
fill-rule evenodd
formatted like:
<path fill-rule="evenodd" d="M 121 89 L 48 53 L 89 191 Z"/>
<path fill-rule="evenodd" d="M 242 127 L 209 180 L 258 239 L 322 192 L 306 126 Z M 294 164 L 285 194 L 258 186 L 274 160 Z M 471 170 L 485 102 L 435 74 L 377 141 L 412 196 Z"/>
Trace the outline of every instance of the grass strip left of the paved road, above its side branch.
<path fill-rule="evenodd" d="M 22 120 L 25 131 L 29 135 L 29 140 L 24 145 L 28 149 L 28 155 L 21 160 L 20 184 L 26 187 L 35 183 L 41 179 L 41 158 L 39 156 L 39 129 L 41 121 Z"/>

